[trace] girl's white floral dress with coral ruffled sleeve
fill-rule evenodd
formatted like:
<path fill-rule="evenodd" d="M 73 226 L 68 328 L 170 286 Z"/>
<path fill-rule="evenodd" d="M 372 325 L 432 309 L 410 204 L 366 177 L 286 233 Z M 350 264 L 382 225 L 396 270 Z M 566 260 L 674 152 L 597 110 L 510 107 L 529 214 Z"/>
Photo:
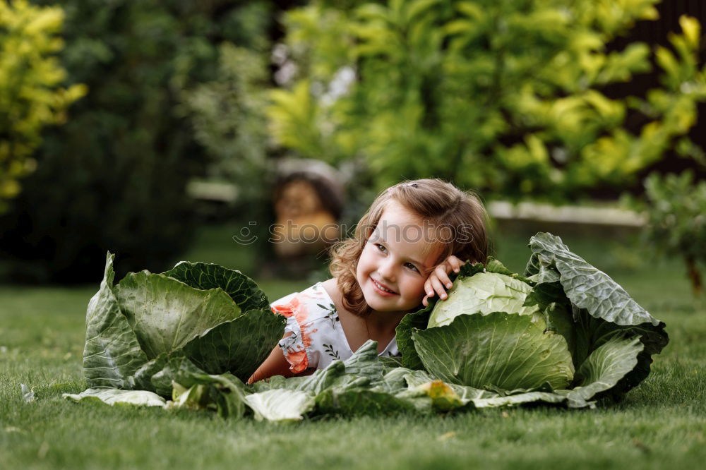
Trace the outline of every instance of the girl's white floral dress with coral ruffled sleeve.
<path fill-rule="evenodd" d="M 287 318 L 280 348 L 289 362 L 289 370 L 300 373 L 307 368 L 323 369 L 338 359 L 353 355 L 343 332 L 338 312 L 321 282 L 301 292 L 294 292 L 270 304 L 275 313 Z M 378 356 L 399 356 L 395 338 Z"/>

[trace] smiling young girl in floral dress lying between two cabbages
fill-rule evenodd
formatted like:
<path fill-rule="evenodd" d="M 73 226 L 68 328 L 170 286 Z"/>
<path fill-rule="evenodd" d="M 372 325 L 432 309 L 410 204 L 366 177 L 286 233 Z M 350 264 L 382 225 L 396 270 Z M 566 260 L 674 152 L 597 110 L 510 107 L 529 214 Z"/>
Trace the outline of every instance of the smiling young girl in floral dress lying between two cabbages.
<path fill-rule="evenodd" d="M 352 356 L 364 342 L 398 356 L 395 327 L 438 294 L 465 261 L 485 263 L 486 211 L 472 193 L 439 179 L 405 181 L 383 191 L 331 250 L 333 279 L 272 303 L 287 318 L 285 336 L 249 383 L 308 375 Z"/>

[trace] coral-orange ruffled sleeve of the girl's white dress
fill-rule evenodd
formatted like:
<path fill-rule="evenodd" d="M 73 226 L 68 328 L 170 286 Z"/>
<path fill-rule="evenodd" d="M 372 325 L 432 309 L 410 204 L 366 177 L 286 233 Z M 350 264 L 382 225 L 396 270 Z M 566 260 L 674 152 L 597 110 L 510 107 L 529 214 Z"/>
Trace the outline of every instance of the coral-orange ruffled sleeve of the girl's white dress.
<path fill-rule="evenodd" d="M 289 362 L 289 370 L 292 370 L 292 373 L 295 374 L 304 372 L 310 367 L 309 356 L 306 352 L 308 337 L 300 323 L 301 320 L 306 318 L 304 304 L 299 301 L 297 296 L 292 296 L 287 303 L 280 303 L 279 305 L 273 303 L 272 309 L 275 313 L 287 318 L 285 337 L 280 339 L 278 344 L 282 349 L 282 353 L 285 354 L 287 362 Z M 311 343 L 311 340 L 309 339 L 308 342 Z"/>

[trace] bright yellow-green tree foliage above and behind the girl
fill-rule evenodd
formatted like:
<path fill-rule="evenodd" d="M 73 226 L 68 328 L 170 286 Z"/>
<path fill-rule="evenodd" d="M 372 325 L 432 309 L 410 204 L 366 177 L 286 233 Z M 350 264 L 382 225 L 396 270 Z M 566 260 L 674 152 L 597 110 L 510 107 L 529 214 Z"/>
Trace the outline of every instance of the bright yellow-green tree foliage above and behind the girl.
<path fill-rule="evenodd" d="M 693 18 L 670 48 L 606 51 L 657 18 L 657 1 L 313 1 L 285 18 L 297 71 L 272 93 L 271 129 L 306 157 L 361 159 L 376 188 L 440 176 L 561 200 L 624 184 L 688 132 L 706 100 Z M 606 95 L 652 58 L 660 88 Z M 635 114 L 647 123 L 633 131 Z"/>

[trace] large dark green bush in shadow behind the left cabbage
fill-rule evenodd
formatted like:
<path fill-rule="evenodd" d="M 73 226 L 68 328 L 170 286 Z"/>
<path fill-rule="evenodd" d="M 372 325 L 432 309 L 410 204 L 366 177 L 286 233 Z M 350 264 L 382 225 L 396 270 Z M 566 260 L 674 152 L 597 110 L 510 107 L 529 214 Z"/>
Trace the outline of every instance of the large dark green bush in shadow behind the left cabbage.
<path fill-rule="evenodd" d="M 163 270 L 191 239 L 185 186 L 207 161 L 184 90 L 215 76 L 220 42 L 262 44 L 269 2 L 62 4 L 67 81 L 90 93 L 47 135 L 0 250 L 13 279 L 95 280 L 107 250 L 121 272 Z"/>

